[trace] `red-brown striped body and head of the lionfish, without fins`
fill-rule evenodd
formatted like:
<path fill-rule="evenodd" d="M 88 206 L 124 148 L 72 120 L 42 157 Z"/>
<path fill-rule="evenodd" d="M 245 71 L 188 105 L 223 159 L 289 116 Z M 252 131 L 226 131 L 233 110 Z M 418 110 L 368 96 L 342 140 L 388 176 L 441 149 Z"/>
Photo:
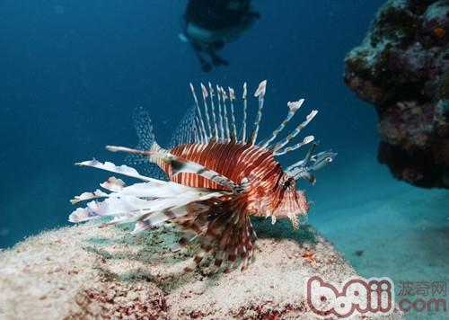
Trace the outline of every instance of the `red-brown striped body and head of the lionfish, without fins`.
<path fill-rule="evenodd" d="M 248 215 L 291 218 L 297 227 L 296 215 L 308 211 L 304 193 L 296 191 L 295 181 L 282 171 L 272 150 L 249 143 L 222 141 L 208 144 L 187 144 L 168 150 L 173 156 L 200 164 L 225 178 L 247 186 L 239 197 L 241 209 Z M 229 188 L 196 173 L 172 173 L 172 165 L 162 158 L 154 159 L 172 182 L 189 187 L 229 191 Z M 290 185 L 285 182 L 290 179 Z"/>

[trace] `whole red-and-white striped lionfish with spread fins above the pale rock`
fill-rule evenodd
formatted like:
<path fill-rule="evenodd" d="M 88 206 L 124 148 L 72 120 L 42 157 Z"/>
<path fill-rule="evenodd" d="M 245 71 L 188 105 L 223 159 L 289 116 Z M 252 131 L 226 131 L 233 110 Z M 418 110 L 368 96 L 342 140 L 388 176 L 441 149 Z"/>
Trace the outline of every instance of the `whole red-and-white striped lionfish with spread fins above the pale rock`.
<path fill-rule="evenodd" d="M 194 86 L 190 84 L 195 104 L 181 122 L 172 147 L 168 149 L 156 142 L 148 113 L 141 107 L 137 108 L 134 121 L 138 147 L 106 148 L 131 154 L 128 156 L 131 163 L 157 165 L 168 181 L 142 175 L 127 165 L 117 166 L 95 159 L 79 163 L 142 182 L 126 186 L 122 180 L 110 177 L 101 183 L 105 191 L 84 192 L 71 200 L 73 204 L 91 201 L 85 208 L 76 209 L 69 221 L 111 217 L 106 224 L 135 223 L 132 234 L 172 222 L 200 242 L 201 253 L 186 270 L 198 266 L 207 255 L 213 257 L 215 271 L 231 271 L 238 266 L 244 270 L 253 258 L 256 239 L 250 217 L 270 217 L 273 224 L 279 218 L 289 218 L 297 229 L 298 216 L 306 216 L 309 205 L 304 191 L 296 190 L 296 182 L 303 178 L 314 183 L 313 171 L 330 163 L 337 155 L 331 150 L 314 155 L 317 143 L 313 142 L 313 136 L 286 147 L 313 120 L 318 112 L 315 110 L 286 138 L 277 141 L 277 136 L 304 99 L 288 102 L 286 119 L 269 138 L 257 142 L 266 85 L 267 81 L 262 81 L 254 93 L 259 108 L 248 135 L 246 83 L 243 84 L 239 134 L 234 114 L 237 97 L 230 87 L 226 92 L 219 85 L 214 90 L 210 83 L 208 87 L 201 84 L 200 103 Z M 277 156 L 312 142 L 306 156 L 286 170 L 275 160 Z M 192 238 L 183 237 L 180 244 L 189 244 Z"/>

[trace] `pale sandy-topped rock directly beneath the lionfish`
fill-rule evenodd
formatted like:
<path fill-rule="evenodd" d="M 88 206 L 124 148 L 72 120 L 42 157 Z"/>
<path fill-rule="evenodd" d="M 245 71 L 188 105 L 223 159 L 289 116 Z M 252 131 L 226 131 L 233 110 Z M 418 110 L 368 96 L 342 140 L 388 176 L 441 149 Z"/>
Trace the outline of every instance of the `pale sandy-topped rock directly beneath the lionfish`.
<path fill-rule="evenodd" d="M 44 232 L 0 252 L 0 318 L 313 319 L 304 280 L 357 274 L 312 227 L 256 227 L 250 268 L 213 276 L 207 266 L 183 272 L 198 246 L 171 250 L 180 235 L 170 226 L 139 236 L 92 224 Z"/>

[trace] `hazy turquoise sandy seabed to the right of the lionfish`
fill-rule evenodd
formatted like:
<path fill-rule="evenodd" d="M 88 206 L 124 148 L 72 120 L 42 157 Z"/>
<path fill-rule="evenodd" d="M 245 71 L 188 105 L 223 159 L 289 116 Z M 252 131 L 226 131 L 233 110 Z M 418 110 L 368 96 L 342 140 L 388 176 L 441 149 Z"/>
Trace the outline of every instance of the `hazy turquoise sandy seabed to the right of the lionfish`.
<path fill-rule="evenodd" d="M 321 204 L 310 222 L 332 240 L 361 276 L 391 278 L 399 302 L 408 298 L 399 294 L 401 282 L 449 283 L 449 192 L 392 183 L 389 178 L 380 175 L 381 183 L 368 186 L 370 190 L 357 193 L 352 201 Z M 364 193 L 366 199 L 361 196 Z M 432 297 L 414 297 L 419 298 Z M 405 316 L 448 318 L 447 312 L 434 309 L 411 310 Z"/>

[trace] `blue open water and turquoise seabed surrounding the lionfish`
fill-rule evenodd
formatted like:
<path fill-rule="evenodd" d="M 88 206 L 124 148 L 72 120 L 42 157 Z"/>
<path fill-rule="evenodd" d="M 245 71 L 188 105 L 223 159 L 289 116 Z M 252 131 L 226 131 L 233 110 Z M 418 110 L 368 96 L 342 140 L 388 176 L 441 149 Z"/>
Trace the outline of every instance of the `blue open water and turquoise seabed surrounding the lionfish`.
<path fill-rule="evenodd" d="M 253 2 L 260 18 L 220 50 L 229 66 L 204 72 L 180 37 L 185 1 L 2 1 L 0 247 L 68 225 L 68 200 L 107 177 L 75 162 L 123 163 L 104 146 L 136 145 L 137 106 L 167 146 L 193 103 L 189 82 L 240 94 L 244 81 L 252 93 L 268 79 L 260 137 L 284 119 L 286 102 L 305 98 L 295 120 L 319 110 L 306 134 L 339 153 L 315 185 L 299 186 L 314 202 L 309 223 L 362 276 L 448 281 L 448 192 L 397 181 L 378 163 L 376 112 L 343 81 L 345 55 L 382 4 Z"/>

